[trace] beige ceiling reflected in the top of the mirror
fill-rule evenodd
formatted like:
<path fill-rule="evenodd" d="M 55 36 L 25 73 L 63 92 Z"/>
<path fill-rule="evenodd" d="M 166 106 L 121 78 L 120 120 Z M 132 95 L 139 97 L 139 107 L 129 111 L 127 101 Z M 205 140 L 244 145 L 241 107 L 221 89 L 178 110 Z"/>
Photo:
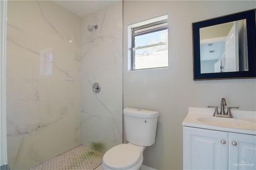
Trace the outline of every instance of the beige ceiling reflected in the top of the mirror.
<path fill-rule="evenodd" d="M 228 22 L 200 28 L 200 40 L 227 36 L 233 25 L 233 22 Z"/>

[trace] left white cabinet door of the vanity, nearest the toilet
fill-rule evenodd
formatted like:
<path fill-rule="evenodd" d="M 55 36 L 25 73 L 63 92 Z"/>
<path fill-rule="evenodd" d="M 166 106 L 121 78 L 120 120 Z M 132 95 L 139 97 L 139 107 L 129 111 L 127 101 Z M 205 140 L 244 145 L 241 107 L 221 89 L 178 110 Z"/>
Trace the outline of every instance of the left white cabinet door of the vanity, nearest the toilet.
<path fill-rule="evenodd" d="M 228 132 L 183 127 L 183 169 L 227 170 Z"/>

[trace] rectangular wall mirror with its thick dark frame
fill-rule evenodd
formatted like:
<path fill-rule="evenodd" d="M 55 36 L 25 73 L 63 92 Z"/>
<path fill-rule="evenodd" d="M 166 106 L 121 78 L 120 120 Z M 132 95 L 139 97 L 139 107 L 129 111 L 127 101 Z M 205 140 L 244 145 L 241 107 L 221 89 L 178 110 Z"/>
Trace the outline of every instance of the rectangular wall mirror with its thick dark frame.
<path fill-rule="evenodd" d="M 256 9 L 192 23 L 194 80 L 256 78 Z"/>

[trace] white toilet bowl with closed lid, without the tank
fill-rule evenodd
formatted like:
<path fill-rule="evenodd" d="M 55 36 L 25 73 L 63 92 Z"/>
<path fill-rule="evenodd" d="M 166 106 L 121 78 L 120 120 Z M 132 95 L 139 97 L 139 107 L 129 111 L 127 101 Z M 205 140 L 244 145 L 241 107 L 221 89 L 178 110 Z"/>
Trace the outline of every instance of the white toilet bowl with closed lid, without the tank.
<path fill-rule="evenodd" d="M 146 146 L 119 144 L 108 150 L 102 160 L 104 170 L 138 170 L 143 162 Z"/>

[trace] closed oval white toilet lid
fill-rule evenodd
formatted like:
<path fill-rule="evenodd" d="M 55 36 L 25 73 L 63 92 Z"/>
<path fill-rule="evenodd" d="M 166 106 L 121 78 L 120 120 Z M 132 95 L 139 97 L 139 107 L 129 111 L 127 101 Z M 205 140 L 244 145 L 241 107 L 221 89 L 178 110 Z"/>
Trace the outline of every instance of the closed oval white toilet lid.
<path fill-rule="evenodd" d="M 119 144 L 104 154 L 103 162 L 109 168 L 126 169 L 137 164 L 140 158 L 140 148 L 130 144 Z"/>

